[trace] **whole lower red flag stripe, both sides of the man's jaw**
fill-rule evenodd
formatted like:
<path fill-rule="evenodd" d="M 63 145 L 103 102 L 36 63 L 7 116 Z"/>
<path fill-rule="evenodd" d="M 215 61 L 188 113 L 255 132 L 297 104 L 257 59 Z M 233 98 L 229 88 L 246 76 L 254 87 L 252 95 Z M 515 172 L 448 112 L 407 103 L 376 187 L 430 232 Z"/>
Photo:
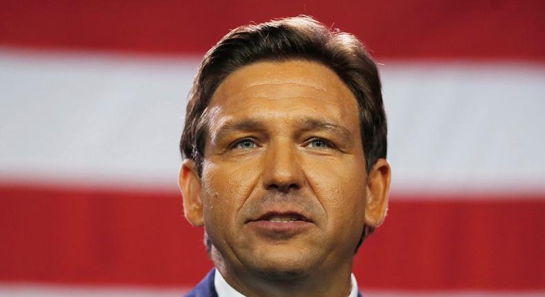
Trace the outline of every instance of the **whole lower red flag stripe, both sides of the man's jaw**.
<path fill-rule="evenodd" d="M 544 289 L 544 196 L 393 197 L 355 274 L 367 289 Z M 0 233 L 3 282 L 193 285 L 212 266 L 178 193 L 4 184 Z"/>

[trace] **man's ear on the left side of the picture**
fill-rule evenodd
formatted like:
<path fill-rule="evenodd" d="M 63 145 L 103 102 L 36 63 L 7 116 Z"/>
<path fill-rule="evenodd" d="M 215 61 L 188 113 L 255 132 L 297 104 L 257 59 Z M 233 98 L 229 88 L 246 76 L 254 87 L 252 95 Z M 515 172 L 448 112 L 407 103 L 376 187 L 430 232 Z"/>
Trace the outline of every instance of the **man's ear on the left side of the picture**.
<path fill-rule="evenodd" d="M 184 213 L 193 226 L 202 226 L 203 207 L 201 200 L 201 178 L 197 174 L 195 162 L 186 159 L 181 163 L 178 186 L 184 199 Z"/>

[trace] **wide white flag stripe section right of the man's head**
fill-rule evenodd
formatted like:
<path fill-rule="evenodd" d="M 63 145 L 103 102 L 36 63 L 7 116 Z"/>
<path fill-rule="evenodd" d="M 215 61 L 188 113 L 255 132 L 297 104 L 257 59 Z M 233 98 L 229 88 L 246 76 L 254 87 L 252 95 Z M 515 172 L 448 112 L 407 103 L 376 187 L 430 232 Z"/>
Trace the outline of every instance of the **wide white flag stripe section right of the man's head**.
<path fill-rule="evenodd" d="M 545 67 L 381 68 L 393 189 L 542 191 Z"/>

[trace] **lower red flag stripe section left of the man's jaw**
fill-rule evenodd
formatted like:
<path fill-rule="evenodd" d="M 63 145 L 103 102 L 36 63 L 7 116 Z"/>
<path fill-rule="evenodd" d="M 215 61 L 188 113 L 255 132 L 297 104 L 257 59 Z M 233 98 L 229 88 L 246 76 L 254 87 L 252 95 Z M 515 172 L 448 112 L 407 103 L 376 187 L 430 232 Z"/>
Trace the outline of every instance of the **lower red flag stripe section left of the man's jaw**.
<path fill-rule="evenodd" d="M 212 267 L 176 193 L 0 187 L 0 279 L 179 285 Z"/>

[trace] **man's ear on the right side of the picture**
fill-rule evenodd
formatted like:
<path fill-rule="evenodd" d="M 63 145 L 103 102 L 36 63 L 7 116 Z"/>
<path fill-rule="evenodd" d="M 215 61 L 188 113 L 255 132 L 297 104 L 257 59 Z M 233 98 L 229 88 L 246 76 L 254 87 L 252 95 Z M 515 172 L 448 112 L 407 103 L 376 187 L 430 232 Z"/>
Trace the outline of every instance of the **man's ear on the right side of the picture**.
<path fill-rule="evenodd" d="M 386 217 L 390 189 L 390 164 L 385 159 L 375 162 L 367 178 L 365 224 L 378 227 Z"/>

